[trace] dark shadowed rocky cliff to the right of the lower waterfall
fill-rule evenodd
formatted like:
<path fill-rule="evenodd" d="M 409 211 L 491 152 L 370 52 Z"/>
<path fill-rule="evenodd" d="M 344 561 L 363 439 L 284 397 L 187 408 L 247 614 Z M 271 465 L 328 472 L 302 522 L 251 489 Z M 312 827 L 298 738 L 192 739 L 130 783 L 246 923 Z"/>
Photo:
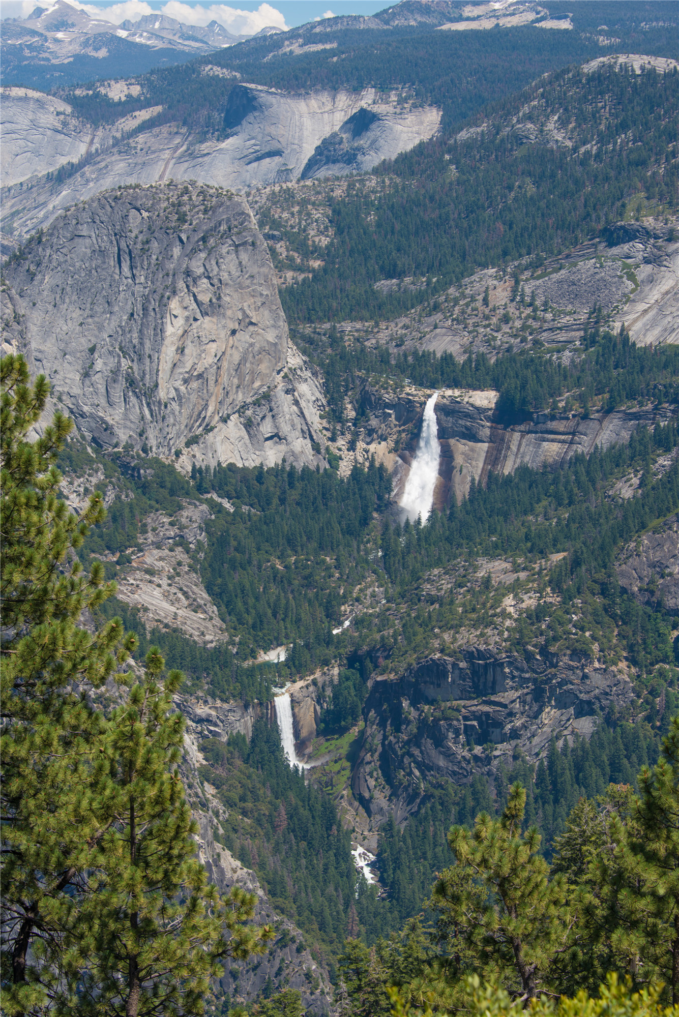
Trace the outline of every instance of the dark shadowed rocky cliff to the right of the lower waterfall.
<path fill-rule="evenodd" d="M 352 790 L 373 824 L 416 812 L 428 781 L 470 783 L 511 767 L 520 751 L 538 760 L 552 736 L 590 737 L 598 715 L 633 696 L 619 671 L 575 657 L 527 660 L 491 650 L 434 656 L 397 679 L 372 682 Z"/>

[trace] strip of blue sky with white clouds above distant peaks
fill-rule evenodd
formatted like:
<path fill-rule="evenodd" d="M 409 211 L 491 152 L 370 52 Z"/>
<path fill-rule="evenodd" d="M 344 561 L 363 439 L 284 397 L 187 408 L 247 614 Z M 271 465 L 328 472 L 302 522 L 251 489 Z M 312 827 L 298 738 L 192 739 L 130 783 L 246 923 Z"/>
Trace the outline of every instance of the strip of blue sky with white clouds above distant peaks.
<path fill-rule="evenodd" d="M 163 10 L 171 17 L 193 24 L 207 24 L 212 18 L 236 35 L 258 32 L 265 24 L 295 27 L 315 18 L 337 14 L 374 14 L 390 6 L 388 0 L 235 0 L 232 4 L 202 0 L 121 0 L 121 2 L 89 3 L 69 0 L 95 16 L 119 24 L 125 18 L 136 20 L 142 14 Z M 49 7 L 50 0 L 3 0 L 0 16 L 26 17 L 35 6 Z"/>

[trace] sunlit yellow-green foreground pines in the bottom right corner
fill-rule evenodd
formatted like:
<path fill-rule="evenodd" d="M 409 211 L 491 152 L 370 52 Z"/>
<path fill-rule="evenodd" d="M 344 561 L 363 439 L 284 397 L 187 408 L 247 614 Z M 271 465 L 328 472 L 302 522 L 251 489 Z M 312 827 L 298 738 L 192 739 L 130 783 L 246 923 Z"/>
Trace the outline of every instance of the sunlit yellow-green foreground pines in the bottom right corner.
<path fill-rule="evenodd" d="M 509 789 L 498 818 L 481 812 L 473 830 L 451 827 L 446 841 L 453 860 L 437 874 L 429 913 L 378 940 L 372 951 L 348 940 L 338 967 L 353 1017 L 387 1017 L 394 1000 L 404 1017 L 425 1001 L 428 1013 L 474 1011 L 484 978 L 495 993 L 504 990 L 499 998 L 485 994 L 486 1014 L 519 1014 L 537 998 L 545 1005 L 545 996 L 578 991 L 566 1012 L 594 1012 L 585 991 L 605 999 L 611 971 L 637 992 L 662 980 L 656 991 L 674 1013 L 679 904 L 666 887 L 676 888 L 679 847 L 677 718 L 660 756 L 654 769 L 641 771 L 638 797 L 619 783 L 594 800 L 580 798 L 552 844 L 551 865 L 540 854 L 537 829 L 526 827 L 529 796 L 520 783 Z M 558 780 L 558 769 L 562 778 L 573 770 L 557 757 L 552 746 L 550 769 L 554 761 Z M 636 963 L 630 965 L 630 957 Z M 604 1004 L 602 1012 L 608 1009 Z"/>

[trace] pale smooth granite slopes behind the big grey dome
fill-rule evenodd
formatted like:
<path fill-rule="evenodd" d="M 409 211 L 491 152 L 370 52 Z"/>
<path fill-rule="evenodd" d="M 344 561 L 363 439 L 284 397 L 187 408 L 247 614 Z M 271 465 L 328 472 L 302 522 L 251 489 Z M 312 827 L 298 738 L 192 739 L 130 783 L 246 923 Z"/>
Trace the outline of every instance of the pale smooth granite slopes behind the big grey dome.
<path fill-rule="evenodd" d="M 88 131 L 65 104 L 66 115 L 57 114 L 50 97 L 41 106 L 39 93 L 32 94 L 28 110 L 21 91 L 6 89 L 2 104 L 3 169 L 12 171 L 3 183 L 13 184 L 2 194 L 3 229 L 17 240 L 74 201 L 119 184 L 173 179 L 244 190 L 298 180 L 305 172 L 316 177 L 370 170 L 430 138 L 441 118 L 436 107 L 404 103 L 397 94 L 375 88 L 289 94 L 236 84 L 226 103 L 224 131 L 205 140 L 181 123 L 139 130 L 160 107 Z M 42 133 L 30 117 L 45 121 Z M 134 134 L 124 137 L 132 128 Z M 317 146 L 335 133 L 349 144 L 348 161 L 314 162 Z M 85 153 L 85 165 L 67 180 L 44 176 Z"/>

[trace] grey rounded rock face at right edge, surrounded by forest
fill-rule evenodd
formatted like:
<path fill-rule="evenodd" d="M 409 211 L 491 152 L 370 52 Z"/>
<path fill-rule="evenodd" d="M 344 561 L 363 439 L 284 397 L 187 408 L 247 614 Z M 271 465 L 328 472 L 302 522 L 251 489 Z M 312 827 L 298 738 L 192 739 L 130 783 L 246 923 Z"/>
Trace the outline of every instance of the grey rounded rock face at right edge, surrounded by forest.
<path fill-rule="evenodd" d="M 642 604 L 679 614 L 679 522 L 672 516 L 655 533 L 626 547 L 616 565 L 621 589 Z"/>

